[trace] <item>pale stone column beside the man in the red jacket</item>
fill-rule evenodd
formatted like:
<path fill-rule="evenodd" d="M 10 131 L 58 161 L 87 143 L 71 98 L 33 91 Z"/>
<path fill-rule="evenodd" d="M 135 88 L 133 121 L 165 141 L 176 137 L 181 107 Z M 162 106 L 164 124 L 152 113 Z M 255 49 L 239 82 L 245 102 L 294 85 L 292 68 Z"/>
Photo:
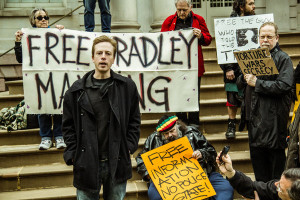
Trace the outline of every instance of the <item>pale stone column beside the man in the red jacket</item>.
<path fill-rule="evenodd" d="M 159 32 L 164 20 L 176 12 L 174 0 L 152 0 L 152 32 Z"/>

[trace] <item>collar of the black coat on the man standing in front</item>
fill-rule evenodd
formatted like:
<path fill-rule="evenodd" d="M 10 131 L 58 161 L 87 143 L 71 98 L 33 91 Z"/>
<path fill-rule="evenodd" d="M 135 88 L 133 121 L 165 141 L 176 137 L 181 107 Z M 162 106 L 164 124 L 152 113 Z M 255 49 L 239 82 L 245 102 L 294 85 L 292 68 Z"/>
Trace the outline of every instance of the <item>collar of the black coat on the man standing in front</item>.
<path fill-rule="evenodd" d="M 81 79 L 76 81 L 72 87 L 69 89 L 70 92 L 76 92 L 78 90 L 83 90 L 85 88 L 86 79 L 89 77 L 90 74 L 95 73 L 95 70 L 87 72 Z M 116 74 L 113 70 L 110 70 L 110 75 L 113 81 L 117 82 L 126 82 L 126 78 L 119 74 Z"/>

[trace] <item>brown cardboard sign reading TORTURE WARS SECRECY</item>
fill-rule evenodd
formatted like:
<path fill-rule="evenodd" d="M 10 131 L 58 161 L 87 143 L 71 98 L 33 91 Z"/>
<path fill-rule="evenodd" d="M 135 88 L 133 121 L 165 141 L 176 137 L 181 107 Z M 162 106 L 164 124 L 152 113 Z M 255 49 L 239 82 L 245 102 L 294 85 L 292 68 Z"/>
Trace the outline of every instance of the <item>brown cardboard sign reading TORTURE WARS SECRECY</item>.
<path fill-rule="evenodd" d="M 265 76 L 278 74 L 269 49 L 254 49 L 234 52 L 243 74 Z"/>

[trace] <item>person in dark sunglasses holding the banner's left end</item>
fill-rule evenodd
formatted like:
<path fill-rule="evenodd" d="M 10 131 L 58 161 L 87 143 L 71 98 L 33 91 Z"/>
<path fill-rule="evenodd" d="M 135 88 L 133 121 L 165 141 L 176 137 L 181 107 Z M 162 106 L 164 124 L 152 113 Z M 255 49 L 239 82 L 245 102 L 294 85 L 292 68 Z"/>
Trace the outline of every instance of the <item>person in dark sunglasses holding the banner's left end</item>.
<path fill-rule="evenodd" d="M 49 27 L 49 15 L 48 12 L 43 8 L 35 8 L 32 10 L 29 16 L 30 24 L 33 28 L 50 28 Z M 63 25 L 55 25 L 58 29 L 64 29 Z M 15 33 L 15 55 L 19 63 L 22 63 L 22 36 L 23 32 L 18 30 Z M 40 127 L 41 144 L 39 145 L 40 150 L 47 150 L 52 147 L 52 136 L 55 138 L 55 144 L 57 149 L 63 149 L 66 147 L 64 139 L 62 137 L 62 115 L 53 115 L 53 133 L 51 132 L 52 119 L 51 115 L 41 114 L 38 115 L 38 122 Z"/>

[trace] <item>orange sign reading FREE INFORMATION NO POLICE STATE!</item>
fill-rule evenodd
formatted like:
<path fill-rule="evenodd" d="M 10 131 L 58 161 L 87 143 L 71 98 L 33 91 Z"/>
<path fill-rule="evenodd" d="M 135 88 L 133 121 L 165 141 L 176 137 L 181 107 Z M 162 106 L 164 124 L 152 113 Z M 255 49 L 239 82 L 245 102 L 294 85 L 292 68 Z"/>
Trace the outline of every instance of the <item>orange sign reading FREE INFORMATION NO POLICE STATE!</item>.
<path fill-rule="evenodd" d="M 216 194 L 192 154 L 188 138 L 183 137 L 141 155 L 162 199 L 205 199 Z"/>

